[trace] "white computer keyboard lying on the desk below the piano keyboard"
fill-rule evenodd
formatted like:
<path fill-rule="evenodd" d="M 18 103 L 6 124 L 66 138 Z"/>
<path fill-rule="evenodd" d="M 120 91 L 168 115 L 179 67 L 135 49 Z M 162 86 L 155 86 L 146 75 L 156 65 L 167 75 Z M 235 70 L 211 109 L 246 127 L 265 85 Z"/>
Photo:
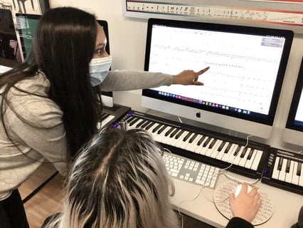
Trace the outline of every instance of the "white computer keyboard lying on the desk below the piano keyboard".
<path fill-rule="evenodd" d="M 206 165 L 170 152 L 164 152 L 163 159 L 166 170 L 171 177 L 213 189 L 216 187 L 220 170 L 218 167 Z"/>

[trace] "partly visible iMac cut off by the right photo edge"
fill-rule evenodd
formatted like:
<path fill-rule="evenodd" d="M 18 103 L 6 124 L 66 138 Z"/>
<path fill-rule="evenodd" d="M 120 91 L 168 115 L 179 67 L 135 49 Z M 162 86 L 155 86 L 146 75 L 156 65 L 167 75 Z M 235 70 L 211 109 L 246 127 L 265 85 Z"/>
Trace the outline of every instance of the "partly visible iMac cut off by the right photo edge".
<path fill-rule="evenodd" d="M 287 123 L 283 133 L 283 140 L 294 145 L 303 146 L 303 57 L 292 103 L 289 108 Z"/>

